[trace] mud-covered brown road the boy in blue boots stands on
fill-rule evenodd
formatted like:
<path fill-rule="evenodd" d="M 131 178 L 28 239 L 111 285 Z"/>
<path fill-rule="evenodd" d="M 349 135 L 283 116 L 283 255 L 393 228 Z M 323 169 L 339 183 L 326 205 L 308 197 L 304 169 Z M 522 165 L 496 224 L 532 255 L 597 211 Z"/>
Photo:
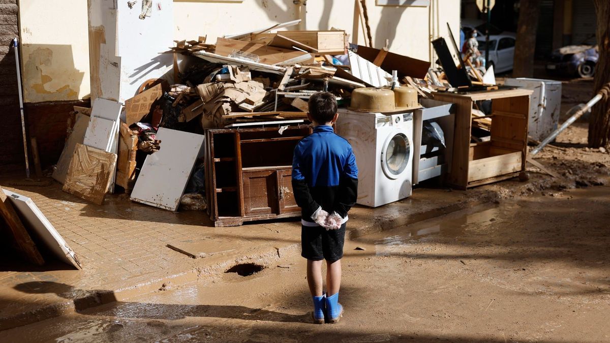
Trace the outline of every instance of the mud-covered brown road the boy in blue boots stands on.
<path fill-rule="evenodd" d="M 610 187 L 587 187 L 350 240 L 336 325 L 309 323 L 304 260 L 293 256 L 0 331 L 0 341 L 609 341 L 609 206 Z"/>

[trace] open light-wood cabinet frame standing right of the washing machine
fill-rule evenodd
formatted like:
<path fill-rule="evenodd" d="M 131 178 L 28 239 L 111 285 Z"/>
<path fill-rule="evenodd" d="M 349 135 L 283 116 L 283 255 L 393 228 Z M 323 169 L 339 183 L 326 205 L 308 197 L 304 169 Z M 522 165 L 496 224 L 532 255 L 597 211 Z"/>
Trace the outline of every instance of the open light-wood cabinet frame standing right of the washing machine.
<path fill-rule="evenodd" d="M 469 94 L 434 93 L 434 99 L 456 104 L 453 159 L 447 183 L 458 189 L 518 176 L 525 171 L 531 90 L 511 89 Z M 490 140 L 471 143 L 472 108 L 492 100 Z"/>

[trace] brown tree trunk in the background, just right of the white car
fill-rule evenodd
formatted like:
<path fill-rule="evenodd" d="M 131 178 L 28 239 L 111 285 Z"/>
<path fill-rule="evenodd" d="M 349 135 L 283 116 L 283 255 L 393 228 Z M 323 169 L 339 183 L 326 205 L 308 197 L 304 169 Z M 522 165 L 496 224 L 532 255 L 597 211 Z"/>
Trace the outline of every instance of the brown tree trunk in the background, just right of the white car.
<path fill-rule="evenodd" d="M 531 78 L 534 76 L 534 52 L 536 51 L 539 13 L 538 1 L 519 1 L 517 42 L 515 42 L 515 57 L 512 68 L 514 78 Z"/>

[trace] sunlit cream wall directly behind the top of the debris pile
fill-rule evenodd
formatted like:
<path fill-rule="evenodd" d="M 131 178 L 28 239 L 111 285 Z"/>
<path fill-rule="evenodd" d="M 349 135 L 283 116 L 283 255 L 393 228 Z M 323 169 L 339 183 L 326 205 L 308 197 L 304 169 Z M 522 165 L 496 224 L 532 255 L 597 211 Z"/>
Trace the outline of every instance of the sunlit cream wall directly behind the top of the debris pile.
<path fill-rule="evenodd" d="M 430 38 L 448 38 L 447 22 L 459 39 L 460 0 L 431 0 L 429 7 L 378 6 L 367 0 L 373 45 L 381 48 L 390 40 L 390 51 L 418 59 L 431 58 Z M 292 0 L 244 0 L 239 3 L 174 0 L 174 38 L 196 39 L 206 35 L 208 42 L 233 34 L 300 18 Z M 325 30 L 331 27 L 352 34 L 353 0 L 308 0 L 303 29 Z M 291 29 L 297 29 L 292 27 Z M 358 42 L 364 44 L 362 29 Z M 450 43 L 450 42 L 448 42 Z"/>

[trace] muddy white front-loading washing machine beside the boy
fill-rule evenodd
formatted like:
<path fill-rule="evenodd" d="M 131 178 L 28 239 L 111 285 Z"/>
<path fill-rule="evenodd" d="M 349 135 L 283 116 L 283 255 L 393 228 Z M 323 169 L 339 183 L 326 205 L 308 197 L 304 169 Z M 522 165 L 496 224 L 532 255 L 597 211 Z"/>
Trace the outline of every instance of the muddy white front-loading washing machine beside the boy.
<path fill-rule="evenodd" d="M 337 134 L 350 142 L 356 156 L 358 204 L 377 207 L 411 195 L 413 112 L 339 109 Z"/>

